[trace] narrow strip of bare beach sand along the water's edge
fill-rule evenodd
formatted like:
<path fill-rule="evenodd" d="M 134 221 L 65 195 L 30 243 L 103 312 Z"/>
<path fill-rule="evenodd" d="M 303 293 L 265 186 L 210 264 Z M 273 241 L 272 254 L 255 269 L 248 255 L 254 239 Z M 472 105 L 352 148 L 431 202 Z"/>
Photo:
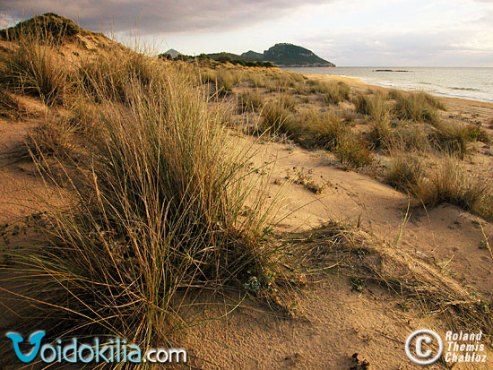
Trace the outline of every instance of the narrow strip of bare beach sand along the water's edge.
<path fill-rule="evenodd" d="M 331 80 L 331 81 L 342 81 L 348 83 L 351 87 L 359 88 L 359 89 L 374 89 L 381 91 L 389 91 L 389 90 L 400 90 L 400 91 L 411 91 L 411 90 L 403 90 L 397 89 L 393 87 L 373 85 L 367 82 L 364 82 L 359 77 L 349 77 L 349 76 L 341 76 L 338 74 L 316 74 L 316 73 L 301 73 L 307 78 L 314 80 Z M 483 100 L 475 100 L 470 98 L 459 98 L 459 97 L 450 97 L 437 95 L 436 93 L 429 92 L 429 94 L 433 96 L 437 96 L 440 99 L 444 99 L 446 102 L 455 103 L 454 105 L 461 105 L 467 107 L 477 107 L 477 108 L 489 108 L 493 109 L 493 102 L 483 101 Z"/>

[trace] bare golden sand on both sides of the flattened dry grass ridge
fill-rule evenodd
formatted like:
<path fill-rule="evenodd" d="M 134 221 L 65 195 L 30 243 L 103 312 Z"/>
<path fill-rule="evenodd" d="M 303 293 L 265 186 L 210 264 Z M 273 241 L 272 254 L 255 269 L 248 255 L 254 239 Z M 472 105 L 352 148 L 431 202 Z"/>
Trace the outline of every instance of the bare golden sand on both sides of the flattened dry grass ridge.
<path fill-rule="evenodd" d="M 448 204 L 426 211 L 369 176 L 327 166 L 330 159 L 324 151 L 304 151 L 281 143 L 256 145 L 257 166 L 275 162 L 273 183 L 284 183 L 293 168 L 304 168 L 312 170 L 317 182 L 329 184 L 319 195 L 303 185 L 274 185 L 272 197 L 278 197 L 287 215 L 278 225 L 281 230 L 316 228 L 329 219 L 345 219 L 394 242 L 408 213 L 409 222 L 396 248 L 432 264 L 445 262 L 445 274 L 489 296 L 493 261 L 487 250 L 478 248 L 482 240 L 478 217 Z M 484 228 L 492 235 L 491 224 Z M 446 330 L 446 324 L 433 317 L 402 310 L 402 300 L 387 289 L 371 286 L 354 292 L 341 277 L 315 285 L 296 301 L 301 319 L 241 309 L 199 327 L 196 338 L 184 345 L 206 360 L 199 361 L 204 368 L 350 368 L 354 365 L 350 357 L 359 353 L 361 359 L 368 359 L 370 368 L 408 369 L 420 367 L 412 366 L 404 353 L 407 335 L 422 327 Z M 493 366 L 489 364 L 475 368 Z"/>

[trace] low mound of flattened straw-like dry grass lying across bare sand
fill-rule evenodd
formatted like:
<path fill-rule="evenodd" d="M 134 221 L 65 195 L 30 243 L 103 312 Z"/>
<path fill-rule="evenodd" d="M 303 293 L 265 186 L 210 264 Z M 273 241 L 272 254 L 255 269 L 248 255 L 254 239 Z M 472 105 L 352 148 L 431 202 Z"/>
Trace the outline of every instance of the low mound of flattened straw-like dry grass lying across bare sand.
<path fill-rule="evenodd" d="M 422 258 L 395 243 L 376 243 L 375 237 L 353 225 L 328 222 L 320 228 L 289 235 L 286 243 L 298 251 L 309 269 L 335 266 L 337 274 L 361 286 L 386 287 L 425 314 L 443 317 L 454 331 L 493 331 L 489 297 L 472 294 Z M 485 309 L 485 307 L 487 309 Z"/>

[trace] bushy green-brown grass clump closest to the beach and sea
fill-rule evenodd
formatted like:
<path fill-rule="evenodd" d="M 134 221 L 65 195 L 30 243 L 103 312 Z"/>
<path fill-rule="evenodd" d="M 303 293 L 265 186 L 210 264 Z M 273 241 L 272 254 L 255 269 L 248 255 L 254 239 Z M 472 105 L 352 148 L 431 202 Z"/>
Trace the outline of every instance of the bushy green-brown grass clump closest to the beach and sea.
<path fill-rule="evenodd" d="M 389 98 L 395 100 L 394 114 L 400 119 L 439 124 L 438 108 L 445 108 L 435 97 L 425 93 L 412 93 L 392 90 Z"/>

